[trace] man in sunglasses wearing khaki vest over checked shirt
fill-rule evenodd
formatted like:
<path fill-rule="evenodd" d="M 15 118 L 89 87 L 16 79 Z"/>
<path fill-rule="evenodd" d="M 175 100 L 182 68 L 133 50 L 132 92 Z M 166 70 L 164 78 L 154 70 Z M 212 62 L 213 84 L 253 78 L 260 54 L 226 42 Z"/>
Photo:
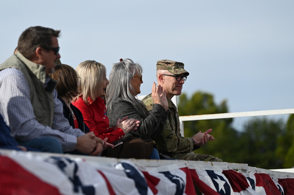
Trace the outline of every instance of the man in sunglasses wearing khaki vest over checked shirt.
<path fill-rule="evenodd" d="M 0 112 L 19 145 L 43 152 L 99 155 L 103 141 L 73 129 L 63 115 L 48 75 L 59 60 L 60 30 L 30 27 L 18 41 L 18 52 L 0 65 Z"/>

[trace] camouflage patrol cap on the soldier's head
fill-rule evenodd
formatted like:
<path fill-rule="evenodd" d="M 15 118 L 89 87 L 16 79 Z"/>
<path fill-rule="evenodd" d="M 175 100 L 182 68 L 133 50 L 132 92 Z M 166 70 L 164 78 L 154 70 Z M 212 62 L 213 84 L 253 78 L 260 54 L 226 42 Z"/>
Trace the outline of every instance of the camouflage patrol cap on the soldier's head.
<path fill-rule="evenodd" d="M 172 60 L 158 60 L 156 70 L 168 70 L 168 72 L 172 74 L 184 73 L 185 76 L 189 75 L 189 72 L 184 69 L 184 63 Z"/>

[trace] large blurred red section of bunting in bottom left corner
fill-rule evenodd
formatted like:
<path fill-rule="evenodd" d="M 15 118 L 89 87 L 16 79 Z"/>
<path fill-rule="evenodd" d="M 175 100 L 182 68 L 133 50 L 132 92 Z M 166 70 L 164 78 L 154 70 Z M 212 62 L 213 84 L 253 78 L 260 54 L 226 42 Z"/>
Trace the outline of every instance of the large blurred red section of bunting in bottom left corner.
<path fill-rule="evenodd" d="M 57 188 L 41 181 L 8 157 L 0 156 L 0 176 L 1 195 L 61 195 Z"/>

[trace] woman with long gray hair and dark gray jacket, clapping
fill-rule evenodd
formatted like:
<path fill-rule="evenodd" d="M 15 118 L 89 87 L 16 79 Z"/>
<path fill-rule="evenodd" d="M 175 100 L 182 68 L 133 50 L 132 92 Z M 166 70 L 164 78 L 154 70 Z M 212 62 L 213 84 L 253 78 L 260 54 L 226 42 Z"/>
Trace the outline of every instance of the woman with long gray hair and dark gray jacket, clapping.
<path fill-rule="evenodd" d="M 113 64 L 106 91 L 106 106 L 109 124 L 114 125 L 118 118 L 129 116 L 140 121 L 136 131 L 127 133 L 123 139 L 134 136 L 152 142 L 161 135 L 168 116 L 168 104 L 162 86 L 152 85 L 153 109 L 148 112 L 136 96 L 140 94 L 143 69 L 130 59 L 120 59 Z"/>

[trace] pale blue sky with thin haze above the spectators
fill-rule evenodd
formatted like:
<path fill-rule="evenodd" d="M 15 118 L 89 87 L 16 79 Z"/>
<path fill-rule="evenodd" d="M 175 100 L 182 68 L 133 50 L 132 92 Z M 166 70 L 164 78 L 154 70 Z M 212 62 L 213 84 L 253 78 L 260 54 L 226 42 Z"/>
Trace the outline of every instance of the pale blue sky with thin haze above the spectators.
<path fill-rule="evenodd" d="M 24 29 L 45 26 L 61 30 L 61 61 L 74 68 L 94 59 L 108 75 L 120 58 L 139 62 L 141 94 L 156 61 L 169 59 L 190 72 L 184 93 L 226 99 L 230 112 L 293 108 L 293 8 L 290 0 L 1 1 L 0 63 Z"/>

